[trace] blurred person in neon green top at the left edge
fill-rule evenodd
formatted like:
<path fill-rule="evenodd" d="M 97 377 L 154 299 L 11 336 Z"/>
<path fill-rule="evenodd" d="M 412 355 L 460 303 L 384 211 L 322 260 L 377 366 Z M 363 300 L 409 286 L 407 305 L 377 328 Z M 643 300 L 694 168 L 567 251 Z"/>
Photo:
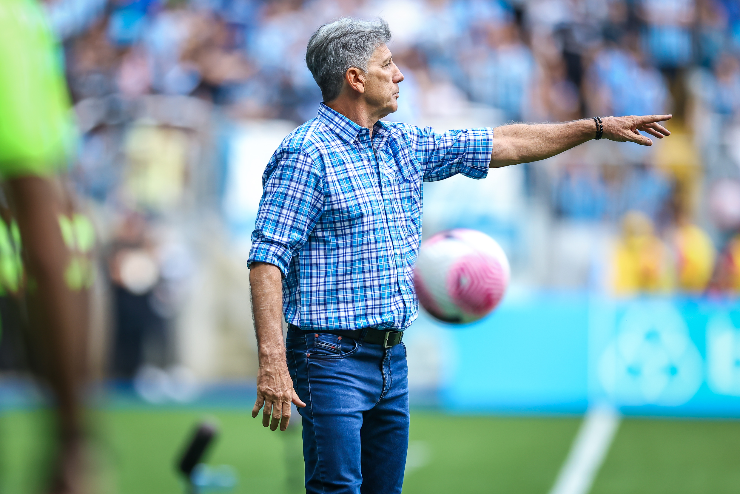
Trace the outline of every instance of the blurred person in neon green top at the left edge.
<path fill-rule="evenodd" d="M 5 275 L 16 276 L 29 321 L 31 367 L 53 400 L 55 451 L 47 492 L 55 494 L 87 492 L 82 393 L 92 274 L 82 259 L 94 243 L 92 225 L 73 211 L 61 177 L 75 147 L 63 74 L 61 50 L 41 5 L 1 0 L 0 179 L 17 233 L 13 221 L 4 222 L 9 245 L 3 241 L 0 249 L 7 252 L 0 254 L 20 248 L 23 266 L 0 267 L 5 288 L 13 291 Z"/>

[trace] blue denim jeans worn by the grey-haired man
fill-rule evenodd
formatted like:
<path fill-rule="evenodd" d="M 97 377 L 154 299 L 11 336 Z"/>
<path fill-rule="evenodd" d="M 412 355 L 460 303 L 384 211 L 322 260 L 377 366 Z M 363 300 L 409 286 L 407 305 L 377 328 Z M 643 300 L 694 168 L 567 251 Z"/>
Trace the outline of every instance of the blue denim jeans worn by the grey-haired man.
<path fill-rule="evenodd" d="M 309 494 L 401 492 L 408 449 L 403 343 L 289 331 L 288 370 L 303 417 Z"/>

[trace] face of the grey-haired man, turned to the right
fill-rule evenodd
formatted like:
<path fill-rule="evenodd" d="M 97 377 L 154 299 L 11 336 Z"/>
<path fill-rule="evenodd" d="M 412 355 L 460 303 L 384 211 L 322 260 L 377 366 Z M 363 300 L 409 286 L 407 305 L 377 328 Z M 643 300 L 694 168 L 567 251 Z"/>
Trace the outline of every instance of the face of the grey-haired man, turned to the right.
<path fill-rule="evenodd" d="M 365 100 L 380 118 L 398 109 L 398 83 L 403 74 L 393 63 L 393 55 L 385 44 L 377 47 L 368 62 Z"/>

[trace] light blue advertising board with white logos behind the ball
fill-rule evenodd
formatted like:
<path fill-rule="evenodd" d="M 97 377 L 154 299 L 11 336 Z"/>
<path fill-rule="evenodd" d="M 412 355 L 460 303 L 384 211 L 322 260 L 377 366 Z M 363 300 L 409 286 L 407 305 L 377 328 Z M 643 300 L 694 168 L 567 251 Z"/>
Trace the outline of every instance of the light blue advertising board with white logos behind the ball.
<path fill-rule="evenodd" d="M 485 319 L 422 316 L 408 330 L 439 353 L 440 405 L 457 412 L 740 416 L 740 302 L 589 294 L 511 295 Z M 427 345 L 428 348 L 428 345 Z"/>

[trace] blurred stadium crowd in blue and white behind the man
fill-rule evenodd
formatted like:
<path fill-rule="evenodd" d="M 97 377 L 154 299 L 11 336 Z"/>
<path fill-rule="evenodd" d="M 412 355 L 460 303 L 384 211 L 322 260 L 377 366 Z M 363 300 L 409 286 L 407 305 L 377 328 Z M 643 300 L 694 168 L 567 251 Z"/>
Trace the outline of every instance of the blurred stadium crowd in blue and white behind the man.
<path fill-rule="evenodd" d="M 740 292 L 736 0 L 46 7 L 81 132 L 70 178 L 104 254 L 96 306 L 110 336 L 93 345 L 113 348 L 115 375 L 132 376 L 142 362 L 186 362 L 200 375 L 251 372 L 253 361 L 229 358 L 254 345 L 246 268 L 222 228 L 229 129 L 314 117 L 321 96 L 303 60 L 306 42 L 340 16 L 391 24 L 406 76 L 394 120 L 458 122 L 483 110 L 496 115 L 491 125 L 673 113 L 673 138 L 652 148 L 591 142 L 524 167 L 528 211 L 547 218 L 537 237 L 545 240 L 532 247 L 548 252 L 534 285 Z M 198 336 L 206 326 L 219 338 Z M 12 342 L 3 345 L 0 361 L 13 367 Z M 201 365 L 204 348 L 221 357 Z"/>

